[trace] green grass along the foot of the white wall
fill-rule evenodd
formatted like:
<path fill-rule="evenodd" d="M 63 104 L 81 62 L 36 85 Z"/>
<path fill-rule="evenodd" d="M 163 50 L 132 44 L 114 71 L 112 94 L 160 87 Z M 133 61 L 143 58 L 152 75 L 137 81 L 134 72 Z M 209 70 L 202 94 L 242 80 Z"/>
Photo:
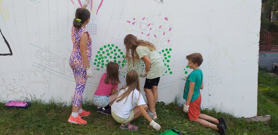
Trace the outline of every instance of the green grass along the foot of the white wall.
<path fill-rule="evenodd" d="M 278 106 L 277 98 L 269 92 L 275 93 L 276 85 L 269 81 L 270 76 L 265 70 L 259 69 L 259 92 L 258 92 L 258 115 L 271 115 L 271 124 L 263 122 L 246 122 L 243 118 L 235 118 L 234 116 L 221 113 L 219 109 L 201 110 L 201 113 L 218 118 L 224 117 L 228 124 L 226 134 L 235 135 L 271 135 L 278 133 Z M 266 80 L 261 80 L 266 79 Z M 276 78 L 277 79 L 277 78 Z M 262 90 L 261 90 L 262 89 Z M 178 95 L 177 95 L 178 96 Z M 187 114 L 179 107 L 178 98 L 172 103 L 165 105 L 158 102 L 156 105 L 158 119 L 156 120 L 162 127 L 162 131 L 168 129 L 176 129 L 182 134 L 200 134 L 200 135 L 218 135 L 213 129 L 208 129 L 202 125 L 188 120 Z M 144 117 L 139 117 L 132 124 L 139 126 L 139 130 L 131 132 L 119 129 L 119 124 L 111 115 L 103 115 L 97 113 L 96 107 L 89 101 L 84 101 L 83 108 L 91 112 L 87 125 L 73 125 L 67 122 L 70 116 L 71 107 L 62 103 L 44 103 L 41 100 L 33 100 L 31 106 L 26 109 L 7 108 L 4 103 L 0 103 L 0 134 L 159 134 L 153 129 Z"/>

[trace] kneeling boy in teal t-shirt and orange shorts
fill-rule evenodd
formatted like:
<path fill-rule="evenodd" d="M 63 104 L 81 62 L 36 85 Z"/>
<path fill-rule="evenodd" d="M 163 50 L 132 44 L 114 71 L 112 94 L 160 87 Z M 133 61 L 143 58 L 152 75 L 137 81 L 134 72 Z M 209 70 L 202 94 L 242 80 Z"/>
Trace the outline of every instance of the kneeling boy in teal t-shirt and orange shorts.
<path fill-rule="evenodd" d="M 183 92 L 183 99 L 186 100 L 183 111 L 187 112 L 188 118 L 191 121 L 198 122 L 205 127 L 215 129 L 221 135 L 225 135 L 225 129 L 227 129 L 227 124 L 223 117 L 213 118 L 206 114 L 200 113 L 201 108 L 201 93 L 200 89 L 204 88 L 203 83 L 203 72 L 200 69 L 200 65 L 203 62 L 203 56 L 200 53 L 192 53 L 187 55 L 186 59 L 188 60 L 187 65 L 193 71 L 189 74 L 188 77 L 185 77 L 186 84 Z M 215 124 L 212 124 L 208 121 L 212 121 Z"/>

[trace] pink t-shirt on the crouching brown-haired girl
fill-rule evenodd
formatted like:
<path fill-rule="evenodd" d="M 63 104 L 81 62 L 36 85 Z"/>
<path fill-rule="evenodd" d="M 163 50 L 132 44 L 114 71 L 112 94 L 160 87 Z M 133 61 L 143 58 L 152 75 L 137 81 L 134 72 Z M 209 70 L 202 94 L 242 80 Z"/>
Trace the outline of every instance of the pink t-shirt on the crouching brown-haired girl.
<path fill-rule="evenodd" d="M 112 84 L 105 84 L 104 80 L 107 77 L 107 74 L 104 73 L 99 81 L 99 86 L 97 90 L 95 91 L 96 96 L 110 96 L 112 89 L 118 89 L 118 84 L 112 85 Z"/>

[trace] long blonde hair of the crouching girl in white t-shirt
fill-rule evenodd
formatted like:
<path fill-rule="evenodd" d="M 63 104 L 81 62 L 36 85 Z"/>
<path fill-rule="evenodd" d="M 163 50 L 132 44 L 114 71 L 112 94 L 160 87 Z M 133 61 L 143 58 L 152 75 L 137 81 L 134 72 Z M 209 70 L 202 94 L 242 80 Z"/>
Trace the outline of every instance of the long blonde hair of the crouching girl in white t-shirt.
<path fill-rule="evenodd" d="M 128 88 L 127 88 L 128 87 Z M 127 89 L 126 89 L 127 88 Z M 137 103 L 140 99 L 140 94 L 141 94 L 141 90 L 140 90 L 140 84 L 139 84 L 139 75 L 137 73 L 136 70 L 129 70 L 127 75 L 126 75 L 126 85 L 124 85 L 118 93 L 120 93 L 120 91 L 125 90 L 124 93 L 117 97 L 116 102 L 120 102 L 121 100 L 123 100 L 124 98 L 126 98 L 126 100 L 124 101 L 124 103 L 127 101 L 127 97 L 128 95 L 132 92 L 132 97 L 131 97 L 131 104 L 133 101 L 133 93 L 134 90 L 137 89 L 139 91 L 139 98 L 137 100 Z"/>

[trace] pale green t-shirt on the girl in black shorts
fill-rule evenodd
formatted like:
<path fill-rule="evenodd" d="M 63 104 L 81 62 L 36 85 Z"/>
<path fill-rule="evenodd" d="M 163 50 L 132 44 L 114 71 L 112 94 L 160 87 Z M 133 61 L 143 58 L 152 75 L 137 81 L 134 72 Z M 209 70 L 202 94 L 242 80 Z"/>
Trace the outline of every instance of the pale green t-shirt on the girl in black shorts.
<path fill-rule="evenodd" d="M 150 59 L 150 70 L 146 78 L 154 79 L 164 74 L 166 69 L 162 61 L 162 57 L 156 50 L 150 51 L 149 47 L 138 46 L 136 47 L 136 52 L 139 55 L 140 59 L 144 56 L 147 56 Z"/>

